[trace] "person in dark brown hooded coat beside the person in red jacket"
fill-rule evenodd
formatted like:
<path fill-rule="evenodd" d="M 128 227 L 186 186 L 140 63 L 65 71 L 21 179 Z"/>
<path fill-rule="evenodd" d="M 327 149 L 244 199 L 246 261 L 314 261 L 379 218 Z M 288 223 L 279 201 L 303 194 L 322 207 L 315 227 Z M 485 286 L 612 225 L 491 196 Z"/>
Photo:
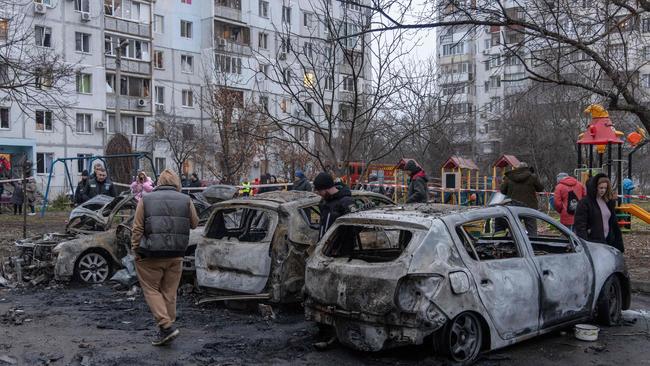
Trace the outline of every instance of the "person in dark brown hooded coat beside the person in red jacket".
<path fill-rule="evenodd" d="M 510 197 L 516 203 L 525 207 L 537 210 L 537 192 L 543 192 L 544 186 L 533 174 L 531 168 L 526 163 L 520 163 L 516 169 L 505 174 L 503 183 L 499 187 L 501 193 Z M 537 220 L 535 218 L 525 218 L 524 224 L 529 236 L 537 236 Z"/>

